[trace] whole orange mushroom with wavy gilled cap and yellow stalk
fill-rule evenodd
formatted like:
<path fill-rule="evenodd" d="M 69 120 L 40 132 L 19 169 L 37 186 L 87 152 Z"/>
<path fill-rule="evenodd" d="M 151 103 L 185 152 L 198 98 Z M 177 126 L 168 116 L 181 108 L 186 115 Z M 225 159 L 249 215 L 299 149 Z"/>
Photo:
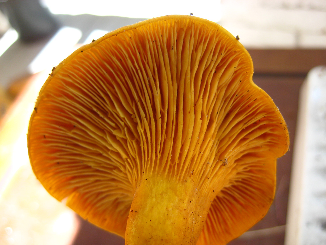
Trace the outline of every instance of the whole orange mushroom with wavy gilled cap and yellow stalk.
<path fill-rule="evenodd" d="M 287 126 L 220 25 L 170 15 L 117 29 L 53 71 L 28 131 L 58 200 L 126 244 L 225 244 L 274 198 Z"/>

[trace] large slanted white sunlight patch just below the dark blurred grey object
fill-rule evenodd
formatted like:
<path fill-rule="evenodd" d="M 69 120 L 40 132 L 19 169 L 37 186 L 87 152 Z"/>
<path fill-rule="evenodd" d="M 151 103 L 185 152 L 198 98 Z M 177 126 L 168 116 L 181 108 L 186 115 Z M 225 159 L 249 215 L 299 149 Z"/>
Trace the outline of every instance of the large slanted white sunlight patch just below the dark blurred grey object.
<path fill-rule="evenodd" d="M 82 31 L 64 26 L 53 36 L 41 52 L 29 64 L 28 70 L 34 74 L 58 65 L 75 49 L 82 37 Z"/>

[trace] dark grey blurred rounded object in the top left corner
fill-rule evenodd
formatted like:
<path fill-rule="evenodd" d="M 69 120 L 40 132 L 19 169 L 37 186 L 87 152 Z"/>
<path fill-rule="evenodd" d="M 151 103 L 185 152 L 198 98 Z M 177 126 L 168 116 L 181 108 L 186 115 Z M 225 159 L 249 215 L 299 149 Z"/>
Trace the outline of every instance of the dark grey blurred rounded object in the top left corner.
<path fill-rule="evenodd" d="M 33 42 L 54 34 L 59 24 L 38 0 L 0 0 L 0 10 L 23 42 Z"/>

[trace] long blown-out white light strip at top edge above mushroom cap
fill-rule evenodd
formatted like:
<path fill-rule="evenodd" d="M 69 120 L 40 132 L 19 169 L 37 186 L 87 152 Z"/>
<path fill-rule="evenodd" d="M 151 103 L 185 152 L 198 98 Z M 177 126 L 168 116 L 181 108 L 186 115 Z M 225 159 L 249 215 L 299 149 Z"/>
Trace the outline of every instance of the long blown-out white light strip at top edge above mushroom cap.
<path fill-rule="evenodd" d="M 42 0 L 53 14 L 93 14 L 99 16 L 122 16 L 129 18 L 150 19 L 167 14 L 185 14 L 198 16 L 217 22 L 221 18 L 220 0 L 125 0 L 102 1 L 92 0 L 91 4 L 81 4 L 80 0 Z M 65 6 L 64 8 L 62 6 Z"/>

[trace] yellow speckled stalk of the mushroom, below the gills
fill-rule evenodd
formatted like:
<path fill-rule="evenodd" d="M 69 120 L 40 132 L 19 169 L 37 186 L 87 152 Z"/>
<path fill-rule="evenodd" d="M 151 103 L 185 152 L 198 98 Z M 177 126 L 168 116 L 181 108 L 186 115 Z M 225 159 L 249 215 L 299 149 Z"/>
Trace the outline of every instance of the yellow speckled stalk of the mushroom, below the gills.
<path fill-rule="evenodd" d="M 143 179 L 131 204 L 125 244 L 195 245 L 210 201 L 192 181 Z"/>

